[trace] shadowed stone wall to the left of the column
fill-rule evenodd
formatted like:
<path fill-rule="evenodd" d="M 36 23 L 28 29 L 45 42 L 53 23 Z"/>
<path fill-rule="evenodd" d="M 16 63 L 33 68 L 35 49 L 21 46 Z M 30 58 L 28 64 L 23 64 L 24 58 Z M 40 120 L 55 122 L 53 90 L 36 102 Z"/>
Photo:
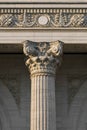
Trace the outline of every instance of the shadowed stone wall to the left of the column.
<path fill-rule="evenodd" d="M 29 130 L 29 84 L 23 55 L 0 55 L 1 130 Z"/>

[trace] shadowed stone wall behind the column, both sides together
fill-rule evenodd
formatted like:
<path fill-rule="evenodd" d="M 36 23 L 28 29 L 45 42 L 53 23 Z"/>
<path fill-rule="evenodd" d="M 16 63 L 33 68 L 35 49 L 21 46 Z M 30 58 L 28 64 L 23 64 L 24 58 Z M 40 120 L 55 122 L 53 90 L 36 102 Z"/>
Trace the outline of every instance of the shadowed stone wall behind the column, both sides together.
<path fill-rule="evenodd" d="M 87 55 L 65 54 L 56 75 L 57 130 L 87 129 Z M 22 54 L 0 55 L 0 129 L 29 130 L 30 78 Z"/>

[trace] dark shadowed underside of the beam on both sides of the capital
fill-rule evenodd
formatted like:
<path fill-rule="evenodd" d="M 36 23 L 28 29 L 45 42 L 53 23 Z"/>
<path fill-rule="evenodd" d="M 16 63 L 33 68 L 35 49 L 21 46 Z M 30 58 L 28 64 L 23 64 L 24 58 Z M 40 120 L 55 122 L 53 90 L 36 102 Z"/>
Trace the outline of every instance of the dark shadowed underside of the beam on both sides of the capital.
<path fill-rule="evenodd" d="M 87 53 L 87 44 L 64 44 L 64 53 Z M 0 44 L 0 54 L 23 54 L 23 44 Z"/>

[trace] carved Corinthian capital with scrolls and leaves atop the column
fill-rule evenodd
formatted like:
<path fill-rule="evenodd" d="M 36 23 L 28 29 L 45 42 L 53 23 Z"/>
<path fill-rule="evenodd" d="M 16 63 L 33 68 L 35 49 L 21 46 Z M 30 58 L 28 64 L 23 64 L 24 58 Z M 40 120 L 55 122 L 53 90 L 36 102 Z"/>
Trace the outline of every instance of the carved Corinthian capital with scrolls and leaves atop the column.
<path fill-rule="evenodd" d="M 63 43 L 55 42 L 32 42 L 25 41 L 23 44 L 24 54 L 28 57 L 26 65 L 33 74 L 55 74 L 57 64 L 61 63 Z"/>

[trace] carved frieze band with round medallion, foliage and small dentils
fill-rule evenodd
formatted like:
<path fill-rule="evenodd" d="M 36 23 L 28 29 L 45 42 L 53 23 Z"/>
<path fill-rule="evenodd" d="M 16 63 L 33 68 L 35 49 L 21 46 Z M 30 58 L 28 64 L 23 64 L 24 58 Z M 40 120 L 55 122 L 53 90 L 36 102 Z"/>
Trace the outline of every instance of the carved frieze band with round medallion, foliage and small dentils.
<path fill-rule="evenodd" d="M 87 9 L 0 9 L 0 27 L 87 27 Z"/>

